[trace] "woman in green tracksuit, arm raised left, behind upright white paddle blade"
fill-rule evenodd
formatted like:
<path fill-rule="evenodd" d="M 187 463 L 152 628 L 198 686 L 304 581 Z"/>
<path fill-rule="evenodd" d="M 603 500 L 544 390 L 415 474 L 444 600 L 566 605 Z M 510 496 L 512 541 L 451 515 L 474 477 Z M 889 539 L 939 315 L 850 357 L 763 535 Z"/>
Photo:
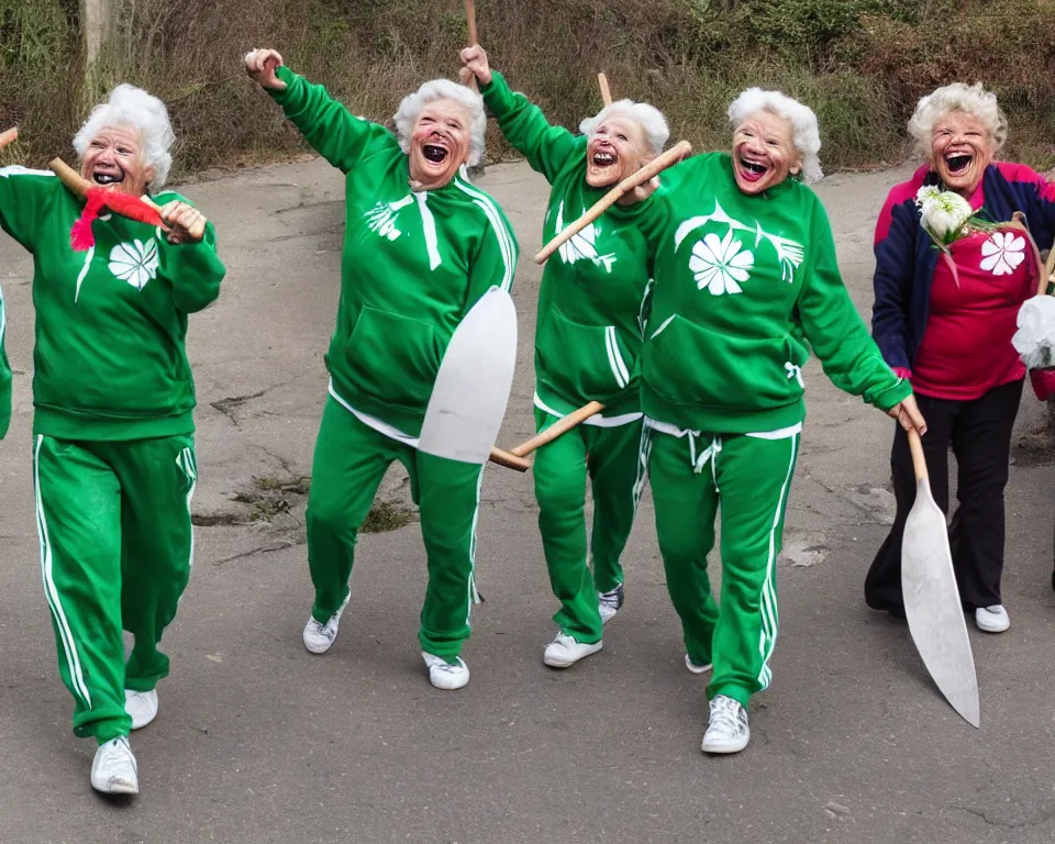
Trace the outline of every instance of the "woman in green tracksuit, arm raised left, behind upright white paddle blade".
<path fill-rule="evenodd" d="M 469 681 L 459 656 L 475 597 L 481 467 L 419 452 L 425 407 L 454 330 L 492 287 L 508 290 L 517 242 L 501 209 L 462 176 L 484 149 L 484 103 L 437 79 L 396 112 L 397 135 L 353 116 L 275 51 L 245 57 L 249 75 L 308 142 L 345 174 L 346 222 L 337 324 L 326 355 L 330 395 L 308 500 L 315 601 L 304 628 L 330 649 L 348 602 L 356 535 L 393 460 L 421 510 L 429 586 L 419 640 L 437 689 Z"/>

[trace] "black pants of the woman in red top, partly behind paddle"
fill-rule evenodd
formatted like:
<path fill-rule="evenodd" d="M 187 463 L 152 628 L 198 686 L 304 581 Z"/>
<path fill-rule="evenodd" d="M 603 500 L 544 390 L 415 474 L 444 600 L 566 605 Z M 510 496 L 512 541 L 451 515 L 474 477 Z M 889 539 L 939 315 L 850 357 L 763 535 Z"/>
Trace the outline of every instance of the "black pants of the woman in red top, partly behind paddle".
<path fill-rule="evenodd" d="M 934 501 L 948 512 L 948 446 L 959 466 L 959 507 L 949 526 L 953 568 L 965 610 L 1001 603 L 1003 573 L 1003 488 L 1008 484 L 1011 431 L 1022 398 L 1022 381 L 995 387 L 971 401 L 934 399 L 917 393 L 926 420 L 923 453 Z M 901 425 L 890 452 L 898 512 L 865 578 L 865 602 L 874 610 L 904 618 L 901 597 L 901 537 L 915 501 L 915 473 L 909 438 Z"/>

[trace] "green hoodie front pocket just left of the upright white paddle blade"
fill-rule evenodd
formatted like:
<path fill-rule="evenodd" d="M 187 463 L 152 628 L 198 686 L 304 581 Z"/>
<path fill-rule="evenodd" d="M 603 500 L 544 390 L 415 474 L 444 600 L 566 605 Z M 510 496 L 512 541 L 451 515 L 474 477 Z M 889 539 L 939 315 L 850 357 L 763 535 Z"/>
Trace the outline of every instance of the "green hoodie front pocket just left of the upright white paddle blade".
<path fill-rule="evenodd" d="M 366 396 L 424 409 L 443 352 L 431 322 L 363 308 L 344 347 L 351 380 Z"/>

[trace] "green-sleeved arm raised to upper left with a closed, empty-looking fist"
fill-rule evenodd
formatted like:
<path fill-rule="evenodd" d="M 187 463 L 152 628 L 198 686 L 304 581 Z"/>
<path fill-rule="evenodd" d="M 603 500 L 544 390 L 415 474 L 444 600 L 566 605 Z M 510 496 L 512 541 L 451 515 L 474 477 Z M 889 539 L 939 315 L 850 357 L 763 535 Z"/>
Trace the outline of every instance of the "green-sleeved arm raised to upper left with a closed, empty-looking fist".
<path fill-rule="evenodd" d="M 312 148 L 343 173 L 349 173 L 370 149 L 397 146 L 391 132 L 352 114 L 321 85 L 282 65 L 274 49 L 255 49 L 244 63 L 246 73 L 282 107 Z"/>

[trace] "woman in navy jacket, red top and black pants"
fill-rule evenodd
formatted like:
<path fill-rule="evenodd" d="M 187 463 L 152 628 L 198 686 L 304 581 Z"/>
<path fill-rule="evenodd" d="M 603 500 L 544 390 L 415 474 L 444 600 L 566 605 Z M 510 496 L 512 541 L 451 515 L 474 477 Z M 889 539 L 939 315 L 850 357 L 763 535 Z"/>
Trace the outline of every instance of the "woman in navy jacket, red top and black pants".
<path fill-rule="evenodd" d="M 930 422 L 923 452 L 942 510 L 948 508 L 949 445 L 956 455 L 959 507 L 951 547 L 959 597 L 980 630 L 1000 633 L 1011 623 L 1000 595 L 1003 488 L 1025 376 L 1011 337 L 1019 307 L 1036 292 L 1039 268 L 1029 236 L 1007 226 L 982 225 L 940 251 L 917 197 L 921 188 L 947 191 L 964 213 L 989 223 L 1021 211 L 1035 244 L 1048 248 L 1055 187 L 1029 167 L 993 160 L 1008 124 L 996 96 L 980 85 L 957 82 L 923 97 L 909 132 L 928 163 L 895 186 L 879 214 L 873 334 L 887 363 L 912 382 Z M 890 466 L 898 510 L 865 580 L 865 600 L 903 618 L 901 537 L 915 478 L 901 430 Z"/>

